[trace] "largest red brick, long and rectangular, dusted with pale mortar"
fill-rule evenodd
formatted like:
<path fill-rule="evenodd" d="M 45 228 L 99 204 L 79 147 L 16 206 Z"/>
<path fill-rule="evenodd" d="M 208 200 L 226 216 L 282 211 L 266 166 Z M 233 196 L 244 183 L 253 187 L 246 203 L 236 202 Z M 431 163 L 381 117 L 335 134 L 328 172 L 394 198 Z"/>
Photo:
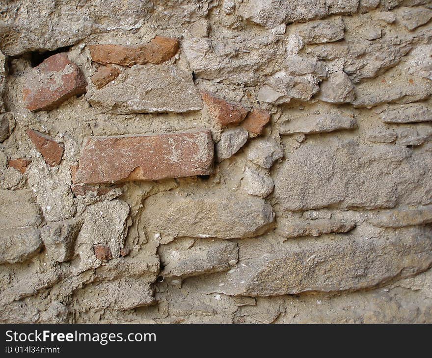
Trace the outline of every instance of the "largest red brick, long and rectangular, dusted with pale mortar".
<path fill-rule="evenodd" d="M 209 175 L 213 147 L 210 130 L 87 137 L 72 180 L 97 184 Z"/>

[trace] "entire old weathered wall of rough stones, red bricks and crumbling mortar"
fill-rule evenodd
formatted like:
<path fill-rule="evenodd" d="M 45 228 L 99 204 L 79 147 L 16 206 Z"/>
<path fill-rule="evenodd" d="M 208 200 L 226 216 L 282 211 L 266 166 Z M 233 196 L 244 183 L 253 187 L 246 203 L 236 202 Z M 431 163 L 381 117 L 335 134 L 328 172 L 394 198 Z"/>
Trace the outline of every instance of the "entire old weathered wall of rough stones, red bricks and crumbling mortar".
<path fill-rule="evenodd" d="M 0 8 L 1 322 L 432 323 L 432 1 Z"/>

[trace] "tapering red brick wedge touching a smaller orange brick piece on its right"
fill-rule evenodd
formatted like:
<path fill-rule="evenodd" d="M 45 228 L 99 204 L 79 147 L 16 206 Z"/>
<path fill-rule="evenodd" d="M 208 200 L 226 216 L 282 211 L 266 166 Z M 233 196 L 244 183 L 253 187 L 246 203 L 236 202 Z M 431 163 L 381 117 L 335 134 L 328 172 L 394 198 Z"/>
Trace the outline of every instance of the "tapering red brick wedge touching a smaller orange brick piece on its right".
<path fill-rule="evenodd" d="M 238 125 L 246 117 L 248 110 L 240 103 L 227 102 L 207 91 L 201 91 L 209 113 L 222 126 Z"/>

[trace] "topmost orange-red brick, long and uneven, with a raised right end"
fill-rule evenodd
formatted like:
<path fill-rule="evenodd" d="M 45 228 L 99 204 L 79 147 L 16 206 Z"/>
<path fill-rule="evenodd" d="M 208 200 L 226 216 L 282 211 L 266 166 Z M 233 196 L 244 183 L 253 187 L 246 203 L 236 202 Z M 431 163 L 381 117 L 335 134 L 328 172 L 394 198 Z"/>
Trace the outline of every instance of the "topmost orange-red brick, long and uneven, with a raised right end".
<path fill-rule="evenodd" d="M 132 67 L 145 63 L 160 64 L 169 60 L 179 50 L 179 40 L 156 36 L 141 46 L 89 45 L 88 48 L 94 62 Z"/>

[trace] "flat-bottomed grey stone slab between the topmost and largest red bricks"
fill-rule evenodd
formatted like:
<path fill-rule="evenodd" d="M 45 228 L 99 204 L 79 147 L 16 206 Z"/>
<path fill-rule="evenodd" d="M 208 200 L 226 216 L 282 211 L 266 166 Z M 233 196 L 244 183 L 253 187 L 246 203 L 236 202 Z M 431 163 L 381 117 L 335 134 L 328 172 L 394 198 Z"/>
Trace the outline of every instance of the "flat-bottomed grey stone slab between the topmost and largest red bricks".
<path fill-rule="evenodd" d="M 90 88 L 86 97 L 98 111 L 114 114 L 184 113 L 203 107 L 191 74 L 167 64 L 135 66 L 123 82 Z"/>

